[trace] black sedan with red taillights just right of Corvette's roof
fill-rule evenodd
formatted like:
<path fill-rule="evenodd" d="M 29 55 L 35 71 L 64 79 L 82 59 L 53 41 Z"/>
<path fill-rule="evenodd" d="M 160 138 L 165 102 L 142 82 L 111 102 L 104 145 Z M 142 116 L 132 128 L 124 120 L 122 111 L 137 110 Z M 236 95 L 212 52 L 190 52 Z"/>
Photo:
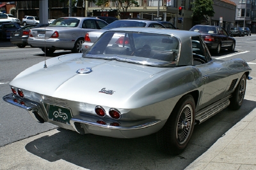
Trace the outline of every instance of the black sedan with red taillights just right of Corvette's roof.
<path fill-rule="evenodd" d="M 233 52 L 236 46 L 234 39 L 228 32 L 220 26 L 215 25 L 195 25 L 189 31 L 200 32 L 209 50 L 216 54 L 221 49 L 228 49 Z"/>

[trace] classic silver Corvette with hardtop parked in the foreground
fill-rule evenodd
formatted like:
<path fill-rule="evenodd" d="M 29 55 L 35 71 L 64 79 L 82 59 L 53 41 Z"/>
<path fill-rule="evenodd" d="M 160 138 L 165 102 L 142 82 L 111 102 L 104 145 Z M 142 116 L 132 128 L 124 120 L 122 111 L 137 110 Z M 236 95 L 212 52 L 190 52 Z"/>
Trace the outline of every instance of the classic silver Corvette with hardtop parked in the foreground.
<path fill-rule="evenodd" d="M 118 28 L 104 32 L 83 55 L 29 67 L 3 99 L 40 123 L 79 134 L 156 133 L 159 148 L 177 155 L 195 124 L 241 107 L 250 71 L 242 59 L 212 59 L 198 32 Z"/>

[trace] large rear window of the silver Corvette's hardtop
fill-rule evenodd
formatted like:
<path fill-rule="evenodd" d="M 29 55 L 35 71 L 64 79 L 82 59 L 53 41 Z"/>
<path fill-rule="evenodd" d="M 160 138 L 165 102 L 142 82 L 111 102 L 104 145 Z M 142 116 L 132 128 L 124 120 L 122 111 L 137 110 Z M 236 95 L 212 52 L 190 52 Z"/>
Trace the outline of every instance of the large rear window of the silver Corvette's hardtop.
<path fill-rule="evenodd" d="M 118 60 L 147 66 L 177 64 L 179 40 L 174 36 L 141 32 L 108 31 L 83 57 Z"/>

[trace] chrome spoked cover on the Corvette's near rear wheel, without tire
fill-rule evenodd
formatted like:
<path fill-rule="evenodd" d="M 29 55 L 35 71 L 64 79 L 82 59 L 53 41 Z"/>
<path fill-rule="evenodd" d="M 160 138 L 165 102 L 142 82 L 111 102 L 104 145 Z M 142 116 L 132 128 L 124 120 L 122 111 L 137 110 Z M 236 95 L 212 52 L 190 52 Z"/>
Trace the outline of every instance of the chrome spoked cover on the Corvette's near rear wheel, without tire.
<path fill-rule="evenodd" d="M 177 142 L 182 145 L 189 138 L 193 125 L 193 109 L 190 104 L 186 104 L 179 115 L 177 124 Z"/>

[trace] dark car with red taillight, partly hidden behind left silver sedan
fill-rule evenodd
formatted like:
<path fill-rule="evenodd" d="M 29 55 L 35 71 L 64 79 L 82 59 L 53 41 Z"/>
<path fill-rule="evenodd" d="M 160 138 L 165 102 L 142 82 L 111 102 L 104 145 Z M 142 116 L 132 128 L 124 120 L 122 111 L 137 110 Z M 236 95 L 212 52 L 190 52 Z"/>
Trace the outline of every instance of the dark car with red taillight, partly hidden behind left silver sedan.
<path fill-rule="evenodd" d="M 49 24 L 32 24 L 21 27 L 10 34 L 10 42 L 17 45 L 19 48 L 24 48 L 28 45 L 29 29 L 47 27 Z"/>

